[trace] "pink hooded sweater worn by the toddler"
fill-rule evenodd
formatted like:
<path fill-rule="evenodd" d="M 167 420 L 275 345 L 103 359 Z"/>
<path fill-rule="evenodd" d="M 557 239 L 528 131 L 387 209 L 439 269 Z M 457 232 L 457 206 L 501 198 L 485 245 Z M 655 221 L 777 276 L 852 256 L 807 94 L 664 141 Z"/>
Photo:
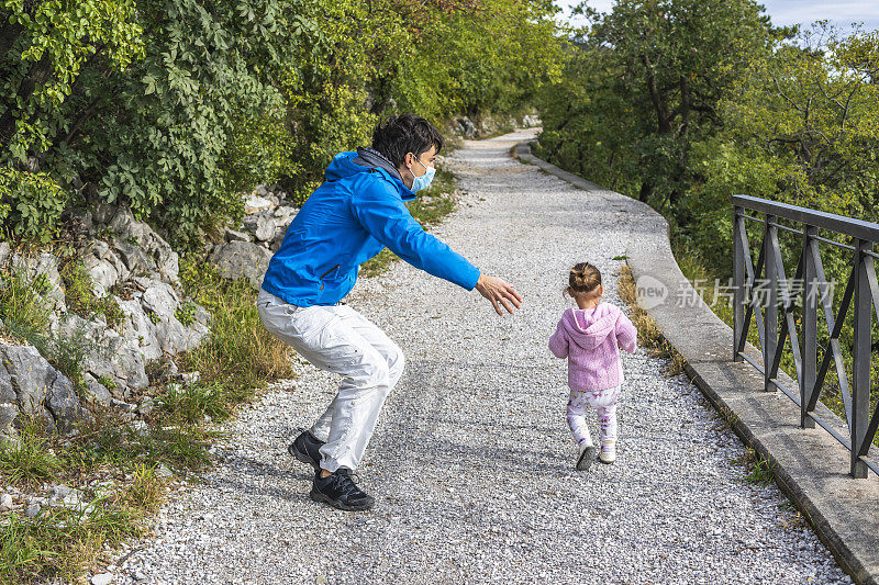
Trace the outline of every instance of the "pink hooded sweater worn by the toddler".
<path fill-rule="evenodd" d="M 607 390 L 623 383 L 617 346 L 634 353 L 637 335 L 617 306 L 599 303 L 594 308 L 567 310 L 549 338 L 549 350 L 568 358 L 571 390 Z"/>

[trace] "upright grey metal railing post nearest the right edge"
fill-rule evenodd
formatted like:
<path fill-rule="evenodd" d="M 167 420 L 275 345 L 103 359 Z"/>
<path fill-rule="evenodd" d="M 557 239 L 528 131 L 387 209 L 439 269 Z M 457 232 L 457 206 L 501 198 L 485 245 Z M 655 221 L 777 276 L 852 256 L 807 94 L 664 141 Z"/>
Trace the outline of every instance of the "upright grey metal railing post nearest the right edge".
<path fill-rule="evenodd" d="M 855 338 L 852 348 L 852 476 L 866 477 L 867 464 L 858 453 L 870 416 L 870 320 L 872 317 L 872 296 L 867 280 L 866 250 L 871 250 L 869 241 L 855 240 L 855 314 L 853 327 Z"/>

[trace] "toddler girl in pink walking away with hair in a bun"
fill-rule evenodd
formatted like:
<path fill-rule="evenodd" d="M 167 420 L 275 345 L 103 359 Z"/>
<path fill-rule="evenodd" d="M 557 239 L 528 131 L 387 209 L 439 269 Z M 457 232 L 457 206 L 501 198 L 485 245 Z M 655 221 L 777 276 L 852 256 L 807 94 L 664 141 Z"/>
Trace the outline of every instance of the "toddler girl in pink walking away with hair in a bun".
<path fill-rule="evenodd" d="M 586 410 L 598 412 L 602 463 L 616 460 L 616 398 L 623 383 L 622 348 L 635 351 L 637 329 L 622 311 L 602 303 L 604 288 L 601 272 L 589 262 L 575 266 L 565 290 L 577 302 L 558 322 L 549 338 L 549 350 L 557 358 L 568 358 L 568 426 L 579 447 L 577 470 L 592 465 L 596 449 L 586 425 Z"/>

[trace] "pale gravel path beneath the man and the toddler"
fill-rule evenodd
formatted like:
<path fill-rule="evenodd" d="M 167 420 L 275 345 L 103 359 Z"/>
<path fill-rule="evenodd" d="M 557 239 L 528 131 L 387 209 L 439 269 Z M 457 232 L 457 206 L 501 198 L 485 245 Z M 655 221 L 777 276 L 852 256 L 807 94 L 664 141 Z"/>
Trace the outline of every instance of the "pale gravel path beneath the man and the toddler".
<path fill-rule="evenodd" d="M 744 450 L 698 390 L 641 349 L 624 358 L 617 462 L 574 471 L 565 361 L 546 341 L 576 261 L 619 303 L 613 258 L 637 226 L 619 195 L 510 158 L 532 136 L 454 153 L 468 195 L 436 229 L 513 282 L 521 312 L 500 318 L 402 262 L 349 297 L 408 357 L 359 470 L 376 509 L 309 499 L 286 446 L 337 381 L 302 363 L 296 387 L 241 413 L 223 461 L 165 506 L 118 583 L 850 583 L 774 485 L 741 480 Z"/>

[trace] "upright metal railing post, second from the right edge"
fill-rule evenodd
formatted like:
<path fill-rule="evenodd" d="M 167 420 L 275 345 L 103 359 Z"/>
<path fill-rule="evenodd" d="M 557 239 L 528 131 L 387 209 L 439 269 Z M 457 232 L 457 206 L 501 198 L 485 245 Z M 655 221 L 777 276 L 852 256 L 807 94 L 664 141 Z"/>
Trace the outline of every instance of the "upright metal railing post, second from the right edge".
<path fill-rule="evenodd" d="M 803 340 L 802 371 L 800 372 L 800 427 L 815 428 L 815 421 L 809 416 L 809 404 L 815 389 L 815 370 L 817 369 L 817 271 L 813 259 L 817 243 L 817 228 L 805 225 L 803 229 Z"/>

